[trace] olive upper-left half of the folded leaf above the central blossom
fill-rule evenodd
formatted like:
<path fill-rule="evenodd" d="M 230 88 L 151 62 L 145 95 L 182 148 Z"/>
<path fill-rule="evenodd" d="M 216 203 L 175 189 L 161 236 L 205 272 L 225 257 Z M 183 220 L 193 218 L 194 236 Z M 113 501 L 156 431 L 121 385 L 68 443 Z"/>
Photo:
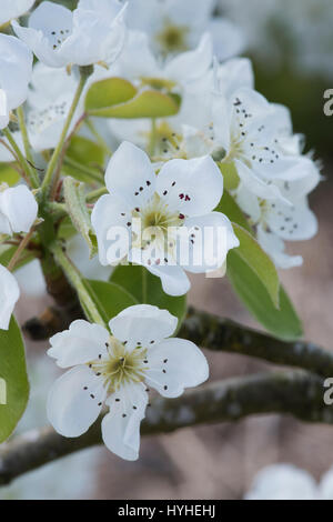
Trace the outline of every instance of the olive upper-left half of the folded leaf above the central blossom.
<path fill-rule="evenodd" d="M 107 109 L 131 100 L 137 94 L 135 87 L 123 78 L 109 78 L 91 86 L 85 97 L 88 112 Z"/>

